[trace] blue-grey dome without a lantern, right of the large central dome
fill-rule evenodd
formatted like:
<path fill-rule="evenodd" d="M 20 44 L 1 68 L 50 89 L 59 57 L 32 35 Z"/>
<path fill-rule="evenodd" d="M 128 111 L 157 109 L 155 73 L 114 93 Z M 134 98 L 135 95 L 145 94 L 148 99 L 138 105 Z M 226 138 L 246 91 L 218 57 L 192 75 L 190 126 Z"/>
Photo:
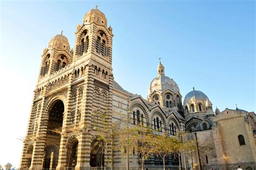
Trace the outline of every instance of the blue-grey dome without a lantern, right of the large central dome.
<path fill-rule="evenodd" d="M 196 101 L 195 101 L 196 100 Z M 190 93 L 188 93 L 185 98 L 184 98 L 184 106 L 188 103 L 192 102 L 203 102 L 204 104 L 206 104 L 208 100 L 208 104 L 210 104 L 210 100 L 209 98 L 202 92 L 199 90 L 192 90 L 190 91 Z"/>

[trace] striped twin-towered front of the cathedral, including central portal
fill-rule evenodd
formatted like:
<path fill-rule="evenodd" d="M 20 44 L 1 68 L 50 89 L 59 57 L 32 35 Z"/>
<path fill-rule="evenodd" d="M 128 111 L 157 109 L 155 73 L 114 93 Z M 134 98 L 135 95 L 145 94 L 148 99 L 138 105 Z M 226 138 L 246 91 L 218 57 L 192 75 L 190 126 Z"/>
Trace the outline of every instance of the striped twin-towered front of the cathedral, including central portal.
<path fill-rule="evenodd" d="M 91 151 L 92 110 L 112 111 L 112 28 L 92 9 L 76 29 L 75 48 L 63 34 L 42 54 L 19 169 L 104 166 Z"/>

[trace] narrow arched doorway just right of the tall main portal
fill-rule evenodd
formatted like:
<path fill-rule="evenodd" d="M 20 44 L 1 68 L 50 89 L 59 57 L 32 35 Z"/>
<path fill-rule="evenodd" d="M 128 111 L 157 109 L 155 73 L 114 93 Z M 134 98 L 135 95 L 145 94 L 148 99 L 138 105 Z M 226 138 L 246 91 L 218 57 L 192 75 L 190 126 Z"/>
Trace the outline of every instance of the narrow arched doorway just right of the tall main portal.
<path fill-rule="evenodd" d="M 77 148 L 78 148 L 78 140 L 76 137 L 72 137 L 68 140 L 67 144 L 67 165 L 68 167 L 76 167 L 77 165 Z"/>

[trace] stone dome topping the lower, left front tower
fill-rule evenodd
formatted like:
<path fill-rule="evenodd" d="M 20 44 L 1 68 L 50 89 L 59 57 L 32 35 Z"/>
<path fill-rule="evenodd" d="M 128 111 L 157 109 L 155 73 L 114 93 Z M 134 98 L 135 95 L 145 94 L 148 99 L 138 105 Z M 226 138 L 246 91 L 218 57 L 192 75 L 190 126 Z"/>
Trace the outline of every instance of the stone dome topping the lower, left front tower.
<path fill-rule="evenodd" d="M 70 51 L 69 40 L 63 34 L 57 34 L 49 42 L 49 48 L 66 49 Z"/>

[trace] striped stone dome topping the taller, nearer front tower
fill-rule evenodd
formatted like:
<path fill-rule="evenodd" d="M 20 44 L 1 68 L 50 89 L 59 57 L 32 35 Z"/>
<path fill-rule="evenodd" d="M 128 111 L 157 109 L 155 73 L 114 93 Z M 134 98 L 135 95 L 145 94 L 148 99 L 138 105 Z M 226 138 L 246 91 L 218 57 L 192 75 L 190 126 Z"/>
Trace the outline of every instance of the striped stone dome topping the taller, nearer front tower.
<path fill-rule="evenodd" d="M 98 10 L 98 6 L 96 5 L 95 9 L 91 9 L 89 12 L 87 12 L 84 16 L 84 23 L 92 23 L 95 22 L 99 25 L 105 25 L 107 26 L 107 19 L 105 14 Z"/>

